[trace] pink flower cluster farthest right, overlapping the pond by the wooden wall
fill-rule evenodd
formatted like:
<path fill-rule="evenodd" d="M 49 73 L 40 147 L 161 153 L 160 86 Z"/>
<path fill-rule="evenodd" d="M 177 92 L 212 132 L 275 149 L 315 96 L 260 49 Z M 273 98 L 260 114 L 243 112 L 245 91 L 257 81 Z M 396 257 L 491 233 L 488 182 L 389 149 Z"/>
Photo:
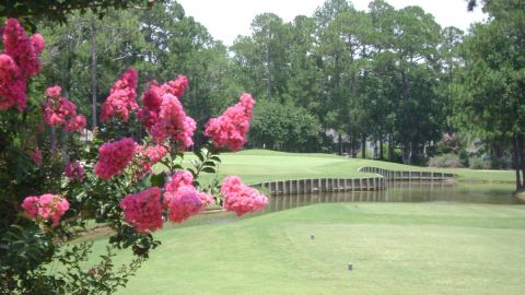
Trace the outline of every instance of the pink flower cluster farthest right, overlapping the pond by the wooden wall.
<path fill-rule="evenodd" d="M 224 196 L 224 209 L 234 211 L 238 216 L 262 210 L 268 203 L 266 196 L 243 185 L 236 176 L 230 176 L 222 181 L 221 193 Z"/>

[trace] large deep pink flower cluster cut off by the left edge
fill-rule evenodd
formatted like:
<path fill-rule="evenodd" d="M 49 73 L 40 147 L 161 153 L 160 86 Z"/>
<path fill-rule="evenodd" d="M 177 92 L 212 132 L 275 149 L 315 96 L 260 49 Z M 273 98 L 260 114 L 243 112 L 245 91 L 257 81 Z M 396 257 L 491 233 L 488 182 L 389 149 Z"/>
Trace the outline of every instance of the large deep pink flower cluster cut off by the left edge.
<path fill-rule="evenodd" d="M 38 54 L 44 50 L 44 37 L 28 37 L 15 19 L 5 21 L 3 27 L 3 52 L 0 54 L 0 109 L 14 104 L 22 111 L 27 104 L 27 79 L 40 71 Z"/>

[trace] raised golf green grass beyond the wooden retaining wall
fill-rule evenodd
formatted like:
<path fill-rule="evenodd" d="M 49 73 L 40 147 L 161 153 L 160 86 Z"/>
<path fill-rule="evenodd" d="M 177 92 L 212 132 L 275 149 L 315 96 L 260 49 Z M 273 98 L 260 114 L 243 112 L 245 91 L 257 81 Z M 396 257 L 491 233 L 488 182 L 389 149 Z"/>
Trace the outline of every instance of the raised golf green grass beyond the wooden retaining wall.
<path fill-rule="evenodd" d="M 295 154 L 265 150 L 248 150 L 221 155 L 220 174 L 238 175 L 245 182 L 299 179 L 308 177 L 365 177 L 361 166 L 395 170 L 450 172 L 460 181 L 513 181 L 511 170 L 436 169 L 408 166 L 373 160 L 348 158 L 330 154 Z"/>

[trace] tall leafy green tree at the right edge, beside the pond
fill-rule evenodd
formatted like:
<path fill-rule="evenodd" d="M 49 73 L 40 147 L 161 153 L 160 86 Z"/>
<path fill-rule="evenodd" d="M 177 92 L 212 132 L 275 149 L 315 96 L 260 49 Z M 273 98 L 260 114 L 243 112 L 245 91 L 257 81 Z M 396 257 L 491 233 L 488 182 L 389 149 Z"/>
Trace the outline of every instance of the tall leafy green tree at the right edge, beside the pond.
<path fill-rule="evenodd" d="M 516 190 L 525 185 L 525 3 L 486 1 L 490 15 L 465 38 L 455 97 L 458 126 L 511 150 Z"/>

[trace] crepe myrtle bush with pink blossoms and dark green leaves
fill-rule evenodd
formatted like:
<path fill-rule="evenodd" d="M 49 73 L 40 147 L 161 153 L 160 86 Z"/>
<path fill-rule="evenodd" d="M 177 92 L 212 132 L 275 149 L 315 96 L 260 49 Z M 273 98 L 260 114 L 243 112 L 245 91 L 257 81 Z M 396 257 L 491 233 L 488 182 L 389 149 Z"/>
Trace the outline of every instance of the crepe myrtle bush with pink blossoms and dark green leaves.
<path fill-rule="evenodd" d="M 219 153 L 245 143 L 255 105 L 249 94 L 210 119 L 209 142 L 183 167 L 196 130 L 182 103 L 185 75 L 151 81 L 139 104 L 138 72 L 128 68 L 102 105 L 103 127 L 85 141 L 85 118 L 61 87 L 38 84 L 44 37 L 28 36 L 15 19 L 2 32 L 0 293 L 108 294 L 160 245 L 153 232 L 165 222 L 184 222 L 213 204 L 237 215 L 267 204 L 238 177 L 217 179 Z M 66 134 L 59 145 L 68 149 L 51 145 L 50 132 Z M 214 181 L 201 185 L 202 174 L 214 174 Z M 112 229 L 95 264 L 92 243 L 71 243 L 93 221 Z M 126 248 L 135 258 L 117 268 L 116 249 Z"/>

